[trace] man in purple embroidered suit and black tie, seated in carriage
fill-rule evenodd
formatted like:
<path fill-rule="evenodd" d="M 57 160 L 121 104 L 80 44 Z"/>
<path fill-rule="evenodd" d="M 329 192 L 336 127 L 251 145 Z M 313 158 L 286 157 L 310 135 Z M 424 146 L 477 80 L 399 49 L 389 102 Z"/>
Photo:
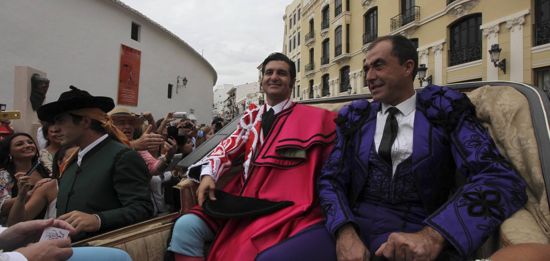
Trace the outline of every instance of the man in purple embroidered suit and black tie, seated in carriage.
<path fill-rule="evenodd" d="M 309 227 L 265 256 L 466 259 L 525 203 L 525 183 L 465 95 L 436 85 L 416 93 L 418 56 L 408 39 L 379 37 L 368 48 L 373 102 L 340 109 L 317 181 L 326 229 Z M 466 184 L 452 193 L 456 169 Z"/>

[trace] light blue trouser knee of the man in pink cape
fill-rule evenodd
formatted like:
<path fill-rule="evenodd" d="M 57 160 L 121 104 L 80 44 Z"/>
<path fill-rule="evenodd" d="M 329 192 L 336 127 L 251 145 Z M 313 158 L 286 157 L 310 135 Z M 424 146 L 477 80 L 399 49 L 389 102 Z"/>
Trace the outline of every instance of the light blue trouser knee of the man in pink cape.
<path fill-rule="evenodd" d="M 174 224 L 168 251 L 188 257 L 204 257 L 205 241 L 212 241 L 214 237 L 214 233 L 202 219 L 193 214 L 185 214 Z"/>

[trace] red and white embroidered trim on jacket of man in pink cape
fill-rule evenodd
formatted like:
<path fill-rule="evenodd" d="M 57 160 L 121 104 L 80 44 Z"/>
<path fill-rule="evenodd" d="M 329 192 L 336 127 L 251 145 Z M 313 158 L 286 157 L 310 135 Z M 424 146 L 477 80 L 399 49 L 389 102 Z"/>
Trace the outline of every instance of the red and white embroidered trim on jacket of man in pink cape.
<path fill-rule="evenodd" d="M 283 106 L 283 110 L 290 107 L 291 104 L 292 104 L 292 99 L 290 99 L 289 97 L 289 99 L 286 101 L 286 103 Z M 260 129 L 260 134 L 258 134 L 255 127 L 259 122 L 262 121 L 262 114 L 263 114 L 264 107 L 265 106 L 259 106 L 254 108 L 253 110 L 250 110 L 250 109 L 246 110 L 244 112 L 243 117 L 240 119 L 239 123 L 237 124 L 237 130 L 235 130 L 235 132 L 233 132 L 233 134 L 231 134 L 228 138 L 222 140 L 222 142 L 216 147 L 216 150 L 210 156 L 205 157 L 201 161 L 189 166 L 189 170 L 193 167 L 200 166 L 205 163 L 210 164 L 211 162 L 213 162 L 214 166 L 212 168 L 212 180 L 214 182 L 217 182 L 219 176 L 221 176 L 222 173 L 232 163 L 231 161 L 227 161 L 224 164 L 221 164 L 220 159 L 222 157 L 232 155 L 235 153 L 235 151 L 238 151 L 241 148 L 241 146 L 243 146 L 244 144 L 246 144 L 246 142 L 248 142 L 248 139 L 250 137 L 250 132 L 252 132 L 254 133 L 254 142 L 252 143 L 252 149 L 250 150 L 250 153 L 246 156 L 247 157 L 246 161 L 243 163 L 244 178 L 246 179 L 249 174 L 248 171 L 249 171 L 250 161 L 252 160 L 253 155 L 256 154 L 258 142 L 260 142 L 260 146 L 263 145 L 263 130 Z M 254 115 L 252 112 L 256 112 L 256 111 L 257 111 L 257 114 L 256 114 L 256 117 L 254 118 Z M 249 124 L 245 123 L 246 117 L 250 118 Z M 233 145 L 233 147 L 230 148 L 229 146 L 232 145 L 232 142 L 231 142 L 232 138 L 235 138 L 235 137 L 237 138 L 235 139 L 235 144 Z M 230 150 L 230 151 L 226 153 L 227 150 Z M 189 177 L 189 171 L 188 171 L 188 177 Z M 191 177 L 189 177 L 189 179 L 195 182 L 200 182 Z"/>

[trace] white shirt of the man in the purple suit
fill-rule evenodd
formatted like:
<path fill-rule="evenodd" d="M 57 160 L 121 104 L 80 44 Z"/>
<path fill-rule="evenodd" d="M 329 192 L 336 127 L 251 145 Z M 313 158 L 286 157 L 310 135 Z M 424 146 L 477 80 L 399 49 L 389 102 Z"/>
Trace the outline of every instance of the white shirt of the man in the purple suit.
<path fill-rule="evenodd" d="M 389 107 L 392 106 L 389 104 L 382 104 L 382 110 L 380 110 L 376 115 L 376 151 L 378 151 L 378 147 L 382 141 L 386 118 L 388 118 L 389 115 L 389 113 L 386 113 L 386 110 L 388 110 Z M 395 119 L 397 119 L 398 125 L 397 137 L 395 137 L 392 150 L 390 151 L 390 156 L 392 157 L 393 162 L 392 176 L 395 174 L 397 165 L 412 154 L 412 130 L 414 127 L 414 115 L 416 112 L 416 91 L 412 97 L 404 102 L 401 102 L 395 107 L 398 108 L 399 112 L 395 114 Z"/>

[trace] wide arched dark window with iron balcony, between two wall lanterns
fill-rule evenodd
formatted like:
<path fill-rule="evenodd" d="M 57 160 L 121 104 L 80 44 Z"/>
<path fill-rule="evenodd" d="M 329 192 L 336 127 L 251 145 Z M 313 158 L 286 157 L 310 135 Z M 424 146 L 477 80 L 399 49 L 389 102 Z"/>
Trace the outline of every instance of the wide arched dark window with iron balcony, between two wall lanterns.
<path fill-rule="evenodd" d="M 449 66 L 481 59 L 481 14 L 469 15 L 450 26 Z"/>

